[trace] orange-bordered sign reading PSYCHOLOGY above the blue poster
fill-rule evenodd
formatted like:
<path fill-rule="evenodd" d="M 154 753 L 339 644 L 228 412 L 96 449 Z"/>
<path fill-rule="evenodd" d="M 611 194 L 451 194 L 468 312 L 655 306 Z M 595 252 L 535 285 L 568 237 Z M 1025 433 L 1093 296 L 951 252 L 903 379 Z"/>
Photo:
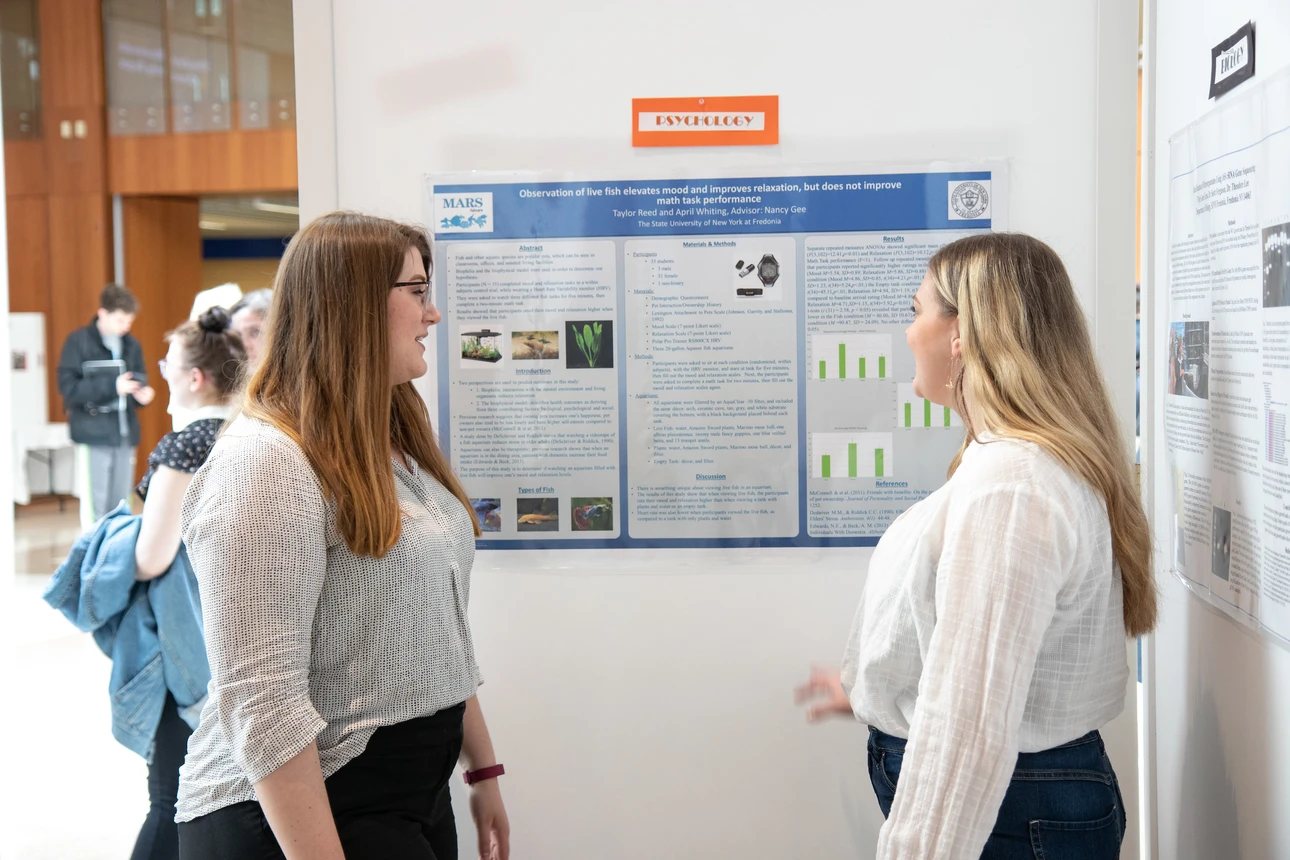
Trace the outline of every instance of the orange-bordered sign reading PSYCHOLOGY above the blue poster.
<path fill-rule="evenodd" d="M 632 146 L 770 143 L 779 143 L 778 95 L 632 99 Z"/>

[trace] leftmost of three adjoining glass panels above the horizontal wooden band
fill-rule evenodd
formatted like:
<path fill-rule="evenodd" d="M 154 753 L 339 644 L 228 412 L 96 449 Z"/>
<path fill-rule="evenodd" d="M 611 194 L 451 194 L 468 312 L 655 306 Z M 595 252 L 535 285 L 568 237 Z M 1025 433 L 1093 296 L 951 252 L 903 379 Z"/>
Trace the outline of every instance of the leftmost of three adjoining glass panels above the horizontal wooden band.
<path fill-rule="evenodd" d="M 164 0 L 103 0 L 110 134 L 163 134 Z"/>

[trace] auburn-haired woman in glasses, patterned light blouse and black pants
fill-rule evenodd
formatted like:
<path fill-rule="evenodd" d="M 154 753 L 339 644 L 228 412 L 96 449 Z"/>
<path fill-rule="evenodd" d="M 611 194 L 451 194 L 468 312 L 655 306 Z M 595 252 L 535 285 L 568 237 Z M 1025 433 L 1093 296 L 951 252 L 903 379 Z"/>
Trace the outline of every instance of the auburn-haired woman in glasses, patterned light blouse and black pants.
<path fill-rule="evenodd" d="M 480 857 L 508 823 L 467 621 L 479 527 L 412 380 L 440 321 L 422 231 L 292 240 L 241 414 L 183 500 L 212 681 L 179 779 L 186 860 Z"/>

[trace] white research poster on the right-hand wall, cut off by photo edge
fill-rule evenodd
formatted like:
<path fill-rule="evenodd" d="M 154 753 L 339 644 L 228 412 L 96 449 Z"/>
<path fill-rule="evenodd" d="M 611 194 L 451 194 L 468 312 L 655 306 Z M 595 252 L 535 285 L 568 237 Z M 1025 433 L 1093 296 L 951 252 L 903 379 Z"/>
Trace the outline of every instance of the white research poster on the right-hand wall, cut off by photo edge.
<path fill-rule="evenodd" d="M 1167 551 L 1193 591 L 1287 640 L 1290 76 L 1175 135 L 1169 192 Z"/>

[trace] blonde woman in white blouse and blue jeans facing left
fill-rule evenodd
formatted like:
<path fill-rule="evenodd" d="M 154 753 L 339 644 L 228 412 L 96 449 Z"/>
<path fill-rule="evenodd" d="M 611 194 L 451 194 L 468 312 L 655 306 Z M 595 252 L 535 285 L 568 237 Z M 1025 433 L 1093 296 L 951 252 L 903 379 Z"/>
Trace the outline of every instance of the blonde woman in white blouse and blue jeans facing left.
<path fill-rule="evenodd" d="M 1098 730 L 1156 591 L 1084 312 L 1051 248 L 988 233 L 933 255 L 913 315 L 915 393 L 964 445 L 873 551 L 841 673 L 799 699 L 868 723 L 880 859 L 1118 857 Z"/>

